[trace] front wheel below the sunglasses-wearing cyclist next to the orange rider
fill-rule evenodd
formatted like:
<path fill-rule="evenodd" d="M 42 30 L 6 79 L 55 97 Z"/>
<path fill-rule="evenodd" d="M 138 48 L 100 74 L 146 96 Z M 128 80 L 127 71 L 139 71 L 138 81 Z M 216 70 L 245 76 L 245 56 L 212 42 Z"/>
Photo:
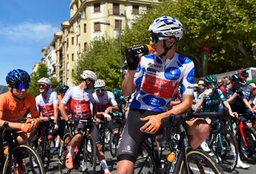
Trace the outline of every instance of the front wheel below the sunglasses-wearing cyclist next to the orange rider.
<path fill-rule="evenodd" d="M 38 143 L 38 142 L 35 142 Z M 47 138 L 43 138 L 43 140 L 39 143 L 38 146 L 35 146 L 36 151 L 38 152 L 41 160 L 43 162 L 44 170 L 47 172 L 50 165 L 50 145 Z"/>

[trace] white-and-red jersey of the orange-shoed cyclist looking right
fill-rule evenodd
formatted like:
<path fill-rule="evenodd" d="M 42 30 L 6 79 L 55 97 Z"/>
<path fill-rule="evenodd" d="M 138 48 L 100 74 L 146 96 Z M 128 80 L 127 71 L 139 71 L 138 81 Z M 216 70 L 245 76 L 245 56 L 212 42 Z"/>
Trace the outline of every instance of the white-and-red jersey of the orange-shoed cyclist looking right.
<path fill-rule="evenodd" d="M 70 111 L 73 118 L 90 117 L 90 102 L 95 103 L 89 89 L 82 90 L 79 86 L 70 87 L 61 100 L 63 104 L 70 101 Z"/>

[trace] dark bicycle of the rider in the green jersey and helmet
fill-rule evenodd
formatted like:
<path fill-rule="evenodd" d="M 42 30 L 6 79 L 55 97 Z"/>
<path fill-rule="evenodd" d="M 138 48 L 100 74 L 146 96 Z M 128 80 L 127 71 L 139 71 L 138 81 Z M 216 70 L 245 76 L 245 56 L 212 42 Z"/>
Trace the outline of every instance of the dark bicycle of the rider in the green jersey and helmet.
<path fill-rule="evenodd" d="M 232 172 L 238 163 L 238 143 L 230 127 L 230 120 L 227 124 L 223 120 L 218 120 L 220 127 L 212 131 L 209 147 L 215 153 L 218 164 L 226 172 Z M 231 148 L 233 146 L 233 149 Z"/>

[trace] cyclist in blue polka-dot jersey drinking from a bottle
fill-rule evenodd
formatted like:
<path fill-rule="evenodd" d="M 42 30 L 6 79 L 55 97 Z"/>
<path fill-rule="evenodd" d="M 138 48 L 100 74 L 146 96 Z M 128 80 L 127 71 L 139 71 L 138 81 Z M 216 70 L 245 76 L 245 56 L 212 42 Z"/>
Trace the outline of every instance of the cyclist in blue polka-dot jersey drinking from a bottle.
<path fill-rule="evenodd" d="M 145 138 L 155 134 L 161 119 L 170 114 L 190 111 L 193 102 L 193 62 L 175 52 L 183 35 L 181 22 L 169 16 L 156 18 L 149 26 L 153 52 L 139 58 L 127 59 L 127 77 L 122 84 L 124 96 L 136 90 L 117 146 L 117 174 L 132 173 L 137 151 Z M 183 82 L 183 102 L 166 112 L 179 82 Z M 188 134 L 193 135 L 191 146 L 197 148 L 206 138 L 201 137 L 203 121 L 190 121 Z"/>

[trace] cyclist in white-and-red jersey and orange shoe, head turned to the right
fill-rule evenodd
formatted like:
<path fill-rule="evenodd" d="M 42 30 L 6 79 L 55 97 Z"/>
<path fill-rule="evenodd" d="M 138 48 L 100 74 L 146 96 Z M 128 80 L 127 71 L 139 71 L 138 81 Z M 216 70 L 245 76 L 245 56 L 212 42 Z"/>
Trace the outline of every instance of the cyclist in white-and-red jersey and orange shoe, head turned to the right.
<path fill-rule="evenodd" d="M 73 120 L 75 122 L 75 136 L 70 141 L 70 148 L 68 149 L 68 154 L 65 161 L 66 167 L 70 169 L 73 169 L 75 147 L 79 146 L 80 141 L 82 141 L 82 134 L 84 133 L 84 130 L 87 129 L 85 128 L 84 123 L 79 122 L 79 118 L 83 117 L 92 119 L 93 117 L 94 119 L 98 120 L 96 116 L 97 103 L 90 92 L 90 89 L 93 89 L 96 80 L 97 75 L 95 75 L 95 72 L 90 70 L 83 71 L 80 75 L 80 85 L 68 89 L 60 103 L 60 113 L 65 121 Z M 68 102 L 70 102 L 71 118 L 68 117 L 67 111 L 65 110 L 65 105 L 68 104 Z M 90 111 L 90 102 L 92 102 L 92 114 Z M 97 126 L 92 124 L 90 131 L 90 134 L 96 143 L 97 158 L 100 161 L 104 172 L 110 173 L 104 153 L 102 151 L 102 146 L 100 144 Z"/>

